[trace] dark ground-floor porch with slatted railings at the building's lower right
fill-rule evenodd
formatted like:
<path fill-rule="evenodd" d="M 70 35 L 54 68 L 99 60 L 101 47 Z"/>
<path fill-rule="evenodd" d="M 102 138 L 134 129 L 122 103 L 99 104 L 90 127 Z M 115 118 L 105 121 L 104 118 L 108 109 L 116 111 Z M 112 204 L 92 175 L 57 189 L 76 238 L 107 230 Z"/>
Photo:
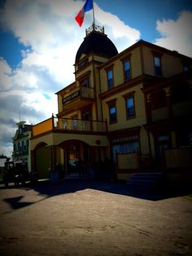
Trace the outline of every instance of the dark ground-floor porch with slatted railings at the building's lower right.
<path fill-rule="evenodd" d="M 138 152 L 116 154 L 117 179 L 127 180 L 133 173 L 158 173 L 162 172 L 169 178 L 177 176 L 181 180 L 185 177 L 192 179 L 192 148 L 164 149 L 161 157 L 161 166 L 157 166 L 155 157 L 142 155 Z M 191 180 L 192 181 L 192 180 Z"/>

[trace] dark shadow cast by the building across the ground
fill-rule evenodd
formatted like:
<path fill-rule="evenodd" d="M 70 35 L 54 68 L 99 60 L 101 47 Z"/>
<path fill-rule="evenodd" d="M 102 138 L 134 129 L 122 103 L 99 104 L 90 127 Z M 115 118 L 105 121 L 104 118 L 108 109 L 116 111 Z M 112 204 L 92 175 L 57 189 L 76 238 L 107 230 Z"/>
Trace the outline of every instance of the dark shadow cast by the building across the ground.
<path fill-rule="evenodd" d="M 9 189 L 11 188 L 15 187 L 10 186 Z M 158 183 L 151 186 L 129 186 L 128 183 L 94 179 L 66 179 L 54 183 L 48 180 L 38 182 L 34 188 L 30 188 L 29 183 L 28 186 L 24 188 L 20 187 L 20 189 L 24 190 L 34 189 L 34 191 L 38 192 L 39 195 L 44 196 L 44 199 L 41 200 L 45 200 L 51 196 L 59 196 L 62 194 L 85 190 L 87 188 L 122 196 L 133 196 L 150 201 L 159 201 L 176 196 L 185 196 L 192 192 L 192 189 L 189 186 L 171 186 L 168 183 Z M 1 189 L 5 188 L 1 187 Z M 18 210 L 22 207 L 26 207 L 37 202 L 22 202 L 23 197 L 24 196 L 6 198 L 3 201 L 6 201 L 9 205 L 11 205 L 12 210 Z"/>

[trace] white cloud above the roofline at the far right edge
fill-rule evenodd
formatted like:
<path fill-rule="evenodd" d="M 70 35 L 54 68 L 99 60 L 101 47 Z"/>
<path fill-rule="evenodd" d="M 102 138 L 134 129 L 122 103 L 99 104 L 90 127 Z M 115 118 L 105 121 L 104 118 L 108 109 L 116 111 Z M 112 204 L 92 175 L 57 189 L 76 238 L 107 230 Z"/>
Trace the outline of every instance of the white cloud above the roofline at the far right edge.
<path fill-rule="evenodd" d="M 158 20 L 156 29 L 161 38 L 155 44 L 192 57 L 192 12 L 182 11 L 178 20 Z"/>

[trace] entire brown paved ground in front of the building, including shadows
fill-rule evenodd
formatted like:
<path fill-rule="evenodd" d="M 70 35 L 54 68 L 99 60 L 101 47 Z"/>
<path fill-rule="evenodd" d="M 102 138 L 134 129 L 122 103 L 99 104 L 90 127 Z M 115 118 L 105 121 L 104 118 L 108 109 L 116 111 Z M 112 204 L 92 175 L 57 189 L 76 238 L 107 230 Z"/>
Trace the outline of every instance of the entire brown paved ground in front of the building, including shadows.
<path fill-rule="evenodd" d="M 192 255 L 192 201 L 85 180 L 0 188 L 0 255 Z"/>

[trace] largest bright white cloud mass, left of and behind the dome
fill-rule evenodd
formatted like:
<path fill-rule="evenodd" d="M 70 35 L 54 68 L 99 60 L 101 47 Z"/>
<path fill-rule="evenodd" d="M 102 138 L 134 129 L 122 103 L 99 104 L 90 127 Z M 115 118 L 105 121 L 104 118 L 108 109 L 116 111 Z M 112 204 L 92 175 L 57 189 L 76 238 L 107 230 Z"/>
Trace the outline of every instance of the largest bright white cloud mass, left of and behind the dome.
<path fill-rule="evenodd" d="M 21 51 L 23 60 L 14 70 L 0 58 L 0 153 L 11 148 L 19 113 L 29 124 L 57 113 L 55 92 L 74 81 L 76 51 L 85 29 L 92 24 L 92 11 L 86 13 L 81 28 L 76 24 L 75 16 L 82 6 L 82 1 L 72 0 L 7 0 L 0 10 L 2 26 L 28 46 Z M 119 51 L 139 39 L 139 31 L 96 3 L 94 7 L 96 23 L 105 26 Z"/>

